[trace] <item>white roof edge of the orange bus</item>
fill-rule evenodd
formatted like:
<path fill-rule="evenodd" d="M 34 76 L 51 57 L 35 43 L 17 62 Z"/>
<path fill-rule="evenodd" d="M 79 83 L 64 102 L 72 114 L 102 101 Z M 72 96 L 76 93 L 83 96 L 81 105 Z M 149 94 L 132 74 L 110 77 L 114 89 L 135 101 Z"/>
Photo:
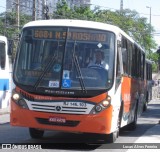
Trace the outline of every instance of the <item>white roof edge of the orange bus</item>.
<path fill-rule="evenodd" d="M 73 19 L 37 20 L 37 21 L 31 21 L 25 24 L 23 28 L 35 27 L 35 26 L 39 26 L 39 27 L 40 26 L 46 26 L 46 27 L 47 26 L 63 26 L 63 27 L 79 27 L 79 28 L 92 28 L 92 29 L 98 29 L 98 30 L 109 30 L 115 33 L 117 36 L 122 34 L 128 40 L 134 43 L 136 46 L 141 48 L 140 45 L 138 45 L 128 34 L 122 31 L 119 27 L 110 25 L 110 24 L 106 24 L 106 23 L 102 23 L 102 22 L 73 20 Z M 141 50 L 143 49 L 141 48 Z"/>

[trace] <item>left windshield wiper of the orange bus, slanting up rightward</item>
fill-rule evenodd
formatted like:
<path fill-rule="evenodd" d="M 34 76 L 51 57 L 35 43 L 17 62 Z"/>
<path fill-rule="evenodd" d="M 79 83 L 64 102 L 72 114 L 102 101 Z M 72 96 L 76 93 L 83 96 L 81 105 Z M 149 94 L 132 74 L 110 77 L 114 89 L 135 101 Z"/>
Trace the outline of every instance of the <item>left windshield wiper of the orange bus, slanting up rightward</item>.
<path fill-rule="evenodd" d="M 57 50 L 58 51 L 58 50 Z M 44 68 L 44 71 L 42 72 L 42 74 L 39 76 L 38 80 L 36 81 L 36 83 L 34 84 L 34 88 L 35 90 L 37 89 L 37 87 L 39 86 L 39 84 L 41 83 L 44 75 L 50 70 L 50 68 L 52 67 L 53 63 L 55 62 L 56 58 L 57 58 L 57 51 L 55 52 L 54 56 L 49 60 L 49 62 L 47 63 L 47 65 Z"/>

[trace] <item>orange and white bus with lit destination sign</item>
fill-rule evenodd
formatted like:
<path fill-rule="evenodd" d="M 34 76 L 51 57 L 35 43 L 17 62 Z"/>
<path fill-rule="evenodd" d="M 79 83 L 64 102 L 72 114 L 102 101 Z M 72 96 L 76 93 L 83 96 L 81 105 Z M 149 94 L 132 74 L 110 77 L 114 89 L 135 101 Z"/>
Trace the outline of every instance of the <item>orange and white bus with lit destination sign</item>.
<path fill-rule="evenodd" d="M 103 61 L 90 65 L 97 51 Z M 143 111 L 144 67 L 145 52 L 116 26 L 27 23 L 13 71 L 11 125 L 28 127 L 32 138 L 58 130 L 114 142 L 121 127 L 136 128 Z"/>

